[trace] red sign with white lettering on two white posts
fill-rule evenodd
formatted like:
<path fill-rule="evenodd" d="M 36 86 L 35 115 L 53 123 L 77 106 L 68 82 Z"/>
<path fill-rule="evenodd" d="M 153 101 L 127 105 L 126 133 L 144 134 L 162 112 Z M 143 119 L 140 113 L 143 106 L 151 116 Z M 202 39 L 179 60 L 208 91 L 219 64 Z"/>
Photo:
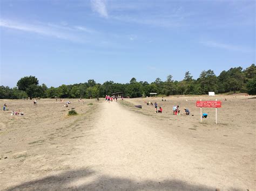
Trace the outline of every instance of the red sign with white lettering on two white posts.
<path fill-rule="evenodd" d="M 215 108 L 215 123 L 218 123 L 218 110 L 217 108 L 221 108 L 221 101 L 197 101 L 197 107 L 200 108 L 200 121 L 202 122 L 202 108 Z"/>

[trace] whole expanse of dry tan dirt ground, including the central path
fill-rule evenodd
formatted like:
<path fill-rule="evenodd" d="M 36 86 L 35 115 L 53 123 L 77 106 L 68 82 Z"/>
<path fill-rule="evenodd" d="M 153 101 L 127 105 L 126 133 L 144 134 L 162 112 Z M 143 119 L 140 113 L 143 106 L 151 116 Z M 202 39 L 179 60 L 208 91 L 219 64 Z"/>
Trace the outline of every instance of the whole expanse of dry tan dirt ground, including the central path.
<path fill-rule="evenodd" d="M 256 99 L 213 97 L 223 102 L 216 125 L 215 109 L 203 109 L 208 118 L 199 123 L 200 98 L 210 97 L 70 100 L 69 108 L 50 99 L 0 100 L 9 108 L 0 112 L 0 188 L 256 190 Z M 172 115 L 173 105 L 191 115 Z M 66 116 L 71 108 L 79 115 Z M 10 116 L 18 109 L 23 116 Z"/>

